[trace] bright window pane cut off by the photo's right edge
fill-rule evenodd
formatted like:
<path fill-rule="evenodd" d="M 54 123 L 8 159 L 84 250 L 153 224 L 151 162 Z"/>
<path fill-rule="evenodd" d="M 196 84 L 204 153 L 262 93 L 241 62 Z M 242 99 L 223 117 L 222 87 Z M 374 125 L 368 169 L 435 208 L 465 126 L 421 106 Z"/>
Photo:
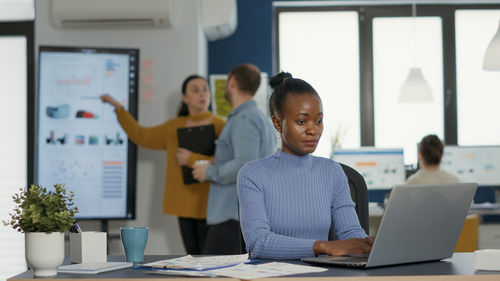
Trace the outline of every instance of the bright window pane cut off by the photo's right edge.
<path fill-rule="evenodd" d="M 500 143 L 500 72 L 483 70 L 499 20 L 500 10 L 455 12 L 459 145 Z"/>

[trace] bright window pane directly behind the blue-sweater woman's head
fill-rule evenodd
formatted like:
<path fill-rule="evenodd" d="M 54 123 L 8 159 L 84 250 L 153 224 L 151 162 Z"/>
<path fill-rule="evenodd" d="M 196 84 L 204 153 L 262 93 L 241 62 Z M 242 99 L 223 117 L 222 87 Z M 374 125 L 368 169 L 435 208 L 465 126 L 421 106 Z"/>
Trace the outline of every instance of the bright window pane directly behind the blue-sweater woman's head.
<path fill-rule="evenodd" d="M 279 69 L 310 83 L 321 96 L 324 131 L 315 155 L 330 157 L 332 139 L 360 145 L 357 12 L 279 13 Z"/>

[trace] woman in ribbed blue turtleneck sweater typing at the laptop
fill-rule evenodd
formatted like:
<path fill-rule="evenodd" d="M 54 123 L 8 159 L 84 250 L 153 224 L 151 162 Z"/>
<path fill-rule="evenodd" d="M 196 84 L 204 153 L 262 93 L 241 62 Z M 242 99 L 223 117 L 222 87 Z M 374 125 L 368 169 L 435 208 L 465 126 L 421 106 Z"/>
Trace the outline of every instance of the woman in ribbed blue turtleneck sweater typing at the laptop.
<path fill-rule="evenodd" d="M 284 72 L 269 84 L 281 149 L 239 171 L 240 223 L 247 251 L 252 258 L 271 259 L 370 252 L 373 238 L 359 224 L 342 168 L 310 155 L 323 132 L 318 93 Z M 337 241 L 327 241 L 332 219 Z"/>

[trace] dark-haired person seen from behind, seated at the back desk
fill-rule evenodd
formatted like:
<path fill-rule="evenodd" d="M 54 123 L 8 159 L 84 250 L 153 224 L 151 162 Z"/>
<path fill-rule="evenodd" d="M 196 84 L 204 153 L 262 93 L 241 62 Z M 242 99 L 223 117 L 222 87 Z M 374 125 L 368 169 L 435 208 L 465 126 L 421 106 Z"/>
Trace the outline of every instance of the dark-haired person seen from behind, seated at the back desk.
<path fill-rule="evenodd" d="M 439 168 L 443 157 L 443 142 L 436 135 L 425 136 L 418 145 L 420 169 L 411 175 L 407 184 L 456 183 L 458 178 Z"/>

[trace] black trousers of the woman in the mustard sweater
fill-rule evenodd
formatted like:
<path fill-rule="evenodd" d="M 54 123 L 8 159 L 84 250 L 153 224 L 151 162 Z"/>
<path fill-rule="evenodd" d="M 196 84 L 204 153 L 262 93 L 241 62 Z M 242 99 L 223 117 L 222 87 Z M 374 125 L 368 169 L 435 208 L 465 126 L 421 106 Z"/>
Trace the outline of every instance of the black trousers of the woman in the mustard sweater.
<path fill-rule="evenodd" d="M 204 219 L 179 217 L 182 241 L 189 255 L 201 255 L 207 238 L 207 222 Z"/>

